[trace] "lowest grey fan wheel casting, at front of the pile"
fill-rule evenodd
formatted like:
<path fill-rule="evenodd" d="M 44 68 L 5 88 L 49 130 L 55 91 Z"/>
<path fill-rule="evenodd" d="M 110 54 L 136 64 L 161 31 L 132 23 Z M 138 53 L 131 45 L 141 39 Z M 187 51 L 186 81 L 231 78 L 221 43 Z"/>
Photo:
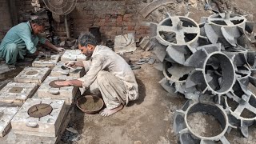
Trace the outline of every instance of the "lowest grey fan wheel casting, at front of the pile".
<path fill-rule="evenodd" d="M 222 130 L 219 130 L 219 133 L 216 135 L 202 136 L 198 134 L 198 131 L 191 129 L 188 117 L 190 114 L 197 112 L 214 116 L 215 120 L 218 121 L 222 127 Z M 176 110 L 174 115 L 174 133 L 180 134 L 179 139 L 181 143 L 214 143 L 218 141 L 229 143 L 225 138 L 225 133 L 229 126 L 229 117 L 222 106 L 210 102 L 187 101 L 184 106 L 182 106 L 182 110 Z"/>

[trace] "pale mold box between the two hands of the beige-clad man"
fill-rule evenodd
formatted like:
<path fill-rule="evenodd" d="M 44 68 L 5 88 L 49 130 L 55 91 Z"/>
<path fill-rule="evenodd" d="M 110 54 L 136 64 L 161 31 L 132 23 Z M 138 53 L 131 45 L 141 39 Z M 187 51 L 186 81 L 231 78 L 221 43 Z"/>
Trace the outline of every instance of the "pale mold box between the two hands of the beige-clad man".
<path fill-rule="evenodd" d="M 63 70 L 62 66 L 64 64 L 65 62 L 58 62 L 58 64 L 54 67 L 54 69 L 51 70 L 50 76 L 61 77 L 63 75 L 66 75 L 74 78 L 81 78 L 85 74 L 85 69 L 80 66 L 74 67 L 74 69 L 66 68 L 66 70 Z"/>

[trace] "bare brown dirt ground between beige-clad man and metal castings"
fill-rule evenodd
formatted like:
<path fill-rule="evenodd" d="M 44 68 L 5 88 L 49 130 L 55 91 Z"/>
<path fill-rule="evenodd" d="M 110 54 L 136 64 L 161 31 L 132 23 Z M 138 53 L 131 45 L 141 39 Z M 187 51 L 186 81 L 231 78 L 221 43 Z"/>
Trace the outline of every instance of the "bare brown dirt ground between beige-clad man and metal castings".
<path fill-rule="evenodd" d="M 126 54 L 132 62 L 138 58 L 154 57 L 151 52 L 136 50 Z M 74 143 L 176 143 L 177 138 L 172 130 L 174 110 L 180 108 L 185 98 L 178 94 L 168 94 L 158 84 L 162 72 L 153 65 L 143 64 L 141 69 L 134 70 L 139 86 L 139 98 L 130 102 L 123 110 L 110 117 L 100 114 L 84 114 L 75 111 L 74 130 L 80 138 Z"/>

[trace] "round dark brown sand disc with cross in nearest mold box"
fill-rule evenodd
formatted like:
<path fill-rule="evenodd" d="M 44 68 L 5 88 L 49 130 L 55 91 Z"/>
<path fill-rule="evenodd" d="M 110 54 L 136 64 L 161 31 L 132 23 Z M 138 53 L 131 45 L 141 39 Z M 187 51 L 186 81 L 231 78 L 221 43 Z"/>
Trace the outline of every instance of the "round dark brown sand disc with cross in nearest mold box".
<path fill-rule="evenodd" d="M 51 113 L 53 107 L 49 104 L 41 103 L 34 106 L 31 106 L 27 113 L 30 117 L 42 118 Z"/>

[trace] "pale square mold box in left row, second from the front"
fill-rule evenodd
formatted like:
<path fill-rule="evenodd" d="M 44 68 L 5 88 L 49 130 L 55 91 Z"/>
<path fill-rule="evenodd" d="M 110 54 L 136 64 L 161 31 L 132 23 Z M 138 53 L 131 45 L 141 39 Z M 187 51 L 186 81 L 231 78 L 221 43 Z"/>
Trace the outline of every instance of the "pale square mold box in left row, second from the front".
<path fill-rule="evenodd" d="M 24 103 L 37 87 L 36 83 L 9 82 L 0 90 L 0 102 Z"/>

